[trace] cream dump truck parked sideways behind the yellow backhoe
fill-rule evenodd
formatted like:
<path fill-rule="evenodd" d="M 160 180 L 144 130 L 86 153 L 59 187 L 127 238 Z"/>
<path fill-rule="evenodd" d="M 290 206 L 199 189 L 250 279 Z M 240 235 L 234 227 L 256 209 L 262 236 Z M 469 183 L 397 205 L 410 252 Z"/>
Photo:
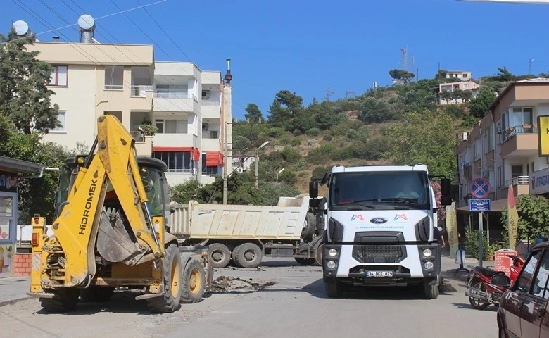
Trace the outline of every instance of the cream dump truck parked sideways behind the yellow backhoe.
<path fill-rule="evenodd" d="M 277 206 L 172 204 L 170 232 L 184 244 L 208 245 L 211 265 L 231 261 L 255 268 L 263 258 L 293 257 L 301 265 L 320 262 L 323 213 L 309 208 L 309 196 L 280 197 Z"/>

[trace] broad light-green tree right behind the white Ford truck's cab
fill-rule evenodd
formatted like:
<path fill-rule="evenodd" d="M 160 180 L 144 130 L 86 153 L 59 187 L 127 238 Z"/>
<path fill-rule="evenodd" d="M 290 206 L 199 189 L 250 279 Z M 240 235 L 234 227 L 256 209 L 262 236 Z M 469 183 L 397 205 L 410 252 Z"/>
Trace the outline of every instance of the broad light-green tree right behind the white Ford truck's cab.
<path fill-rule="evenodd" d="M 387 128 L 384 157 L 398 165 L 424 163 L 431 174 L 453 177 L 454 142 L 446 113 L 406 113 L 402 123 Z"/>

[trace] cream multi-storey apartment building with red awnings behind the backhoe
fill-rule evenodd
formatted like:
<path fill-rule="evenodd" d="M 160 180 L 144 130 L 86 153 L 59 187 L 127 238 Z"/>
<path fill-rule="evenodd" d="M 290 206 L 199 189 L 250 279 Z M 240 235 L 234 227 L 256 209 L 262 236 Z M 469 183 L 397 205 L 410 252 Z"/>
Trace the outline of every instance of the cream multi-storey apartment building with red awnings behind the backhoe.
<path fill-rule="evenodd" d="M 224 83 L 220 71 L 155 61 L 151 45 L 101 44 L 89 32 L 80 43 L 34 42 L 28 49 L 54 67 L 48 87 L 62 126 L 45 141 L 87 151 L 96 119 L 111 114 L 130 131 L 139 155 L 165 161 L 169 184 L 191 177 L 208 184 L 222 175 L 231 155 L 223 146 L 231 144 L 232 116 L 230 78 Z M 144 134 L 144 123 L 158 132 Z"/>

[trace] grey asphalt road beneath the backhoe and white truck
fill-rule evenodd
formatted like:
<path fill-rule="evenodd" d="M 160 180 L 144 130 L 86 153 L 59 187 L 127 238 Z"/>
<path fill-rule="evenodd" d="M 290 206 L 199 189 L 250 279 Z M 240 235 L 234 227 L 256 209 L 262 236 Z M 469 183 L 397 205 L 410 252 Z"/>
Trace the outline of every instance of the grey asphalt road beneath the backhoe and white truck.
<path fill-rule="evenodd" d="M 228 278 L 227 278 L 228 277 Z M 175 313 L 150 313 L 133 294 L 108 303 L 79 303 L 68 314 L 46 313 L 37 299 L 0 308 L 6 337 L 497 337 L 496 308 L 474 310 L 462 282 L 438 299 L 406 288 L 324 294 L 319 266 L 264 258 L 259 268 L 216 269 L 226 282 L 203 301 Z M 451 288 L 448 288 L 451 289 Z"/>

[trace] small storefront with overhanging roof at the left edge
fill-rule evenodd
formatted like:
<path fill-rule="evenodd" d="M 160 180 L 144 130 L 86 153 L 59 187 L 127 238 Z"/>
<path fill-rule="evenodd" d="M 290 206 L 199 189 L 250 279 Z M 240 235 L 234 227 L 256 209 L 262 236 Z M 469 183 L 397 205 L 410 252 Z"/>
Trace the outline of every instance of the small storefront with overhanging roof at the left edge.
<path fill-rule="evenodd" d="M 14 273 L 17 238 L 18 175 L 41 177 L 44 165 L 0 156 L 0 278 Z"/>

